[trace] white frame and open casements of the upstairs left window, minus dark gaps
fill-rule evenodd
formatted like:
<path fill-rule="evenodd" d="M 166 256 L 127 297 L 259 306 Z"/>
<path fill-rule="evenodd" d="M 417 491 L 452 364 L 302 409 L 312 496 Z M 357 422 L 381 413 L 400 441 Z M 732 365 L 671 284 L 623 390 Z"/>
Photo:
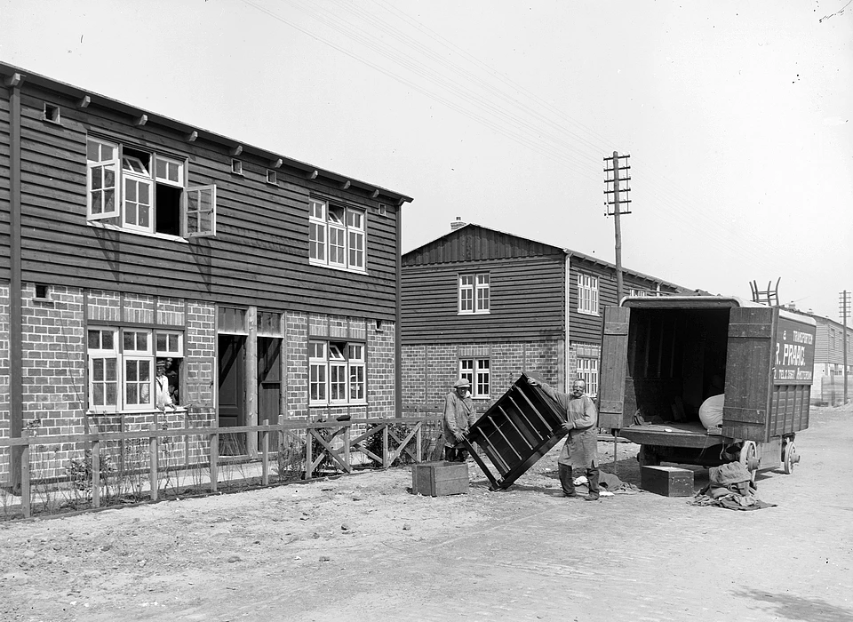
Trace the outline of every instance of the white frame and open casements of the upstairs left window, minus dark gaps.
<path fill-rule="evenodd" d="M 86 222 L 94 227 L 114 228 L 166 239 L 216 235 L 216 186 L 189 186 L 186 161 L 147 149 L 133 148 L 133 151 L 150 154 L 147 168 L 139 157 L 124 155 L 123 143 L 100 139 L 97 136 L 90 136 L 86 140 Z M 125 170 L 125 165 L 128 170 Z M 160 174 L 161 165 L 165 166 L 165 175 Z M 105 189 L 103 186 L 108 171 L 113 173 L 114 185 Z M 137 191 L 140 187 L 147 188 L 147 203 L 142 203 L 143 209 L 148 211 L 146 224 L 140 224 L 138 217 L 129 218 L 130 210 L 137 202 L 132 201 L 132 193 L 127 192 L 126 183 L 133 184 Z M 158 184 L 181 190 L 178 205 L 179 235 L 156 231 Z M 106 192 L 109 189 L 113 190 L 111 207 Z"/>

